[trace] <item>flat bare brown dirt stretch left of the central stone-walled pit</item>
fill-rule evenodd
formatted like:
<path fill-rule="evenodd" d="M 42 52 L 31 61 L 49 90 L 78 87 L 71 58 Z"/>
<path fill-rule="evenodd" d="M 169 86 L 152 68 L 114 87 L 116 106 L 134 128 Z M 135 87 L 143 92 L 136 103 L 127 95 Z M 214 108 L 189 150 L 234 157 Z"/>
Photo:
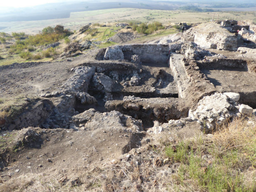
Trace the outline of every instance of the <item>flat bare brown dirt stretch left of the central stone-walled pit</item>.
<path fill-rule="evenodd" d="M 40 95 L 43 91 L 56 90 L 72 76 L 70 69 L 87 60 L 87 54 L 69 61 L 0 66 L 0 97 Z"/>

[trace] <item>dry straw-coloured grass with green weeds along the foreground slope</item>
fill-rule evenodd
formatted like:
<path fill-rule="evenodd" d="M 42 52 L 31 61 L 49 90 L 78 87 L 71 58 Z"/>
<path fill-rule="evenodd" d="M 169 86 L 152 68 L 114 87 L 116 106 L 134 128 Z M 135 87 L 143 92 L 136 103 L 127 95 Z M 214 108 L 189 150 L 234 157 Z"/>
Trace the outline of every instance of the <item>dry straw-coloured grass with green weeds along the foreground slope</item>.
<path fill-rule="evenodd" d="M 21 175 L 0 191 L 255 192 L 255 123 L 255 117 L 235 119 L 213 135 L 147 144 L 101 168 Z"/>

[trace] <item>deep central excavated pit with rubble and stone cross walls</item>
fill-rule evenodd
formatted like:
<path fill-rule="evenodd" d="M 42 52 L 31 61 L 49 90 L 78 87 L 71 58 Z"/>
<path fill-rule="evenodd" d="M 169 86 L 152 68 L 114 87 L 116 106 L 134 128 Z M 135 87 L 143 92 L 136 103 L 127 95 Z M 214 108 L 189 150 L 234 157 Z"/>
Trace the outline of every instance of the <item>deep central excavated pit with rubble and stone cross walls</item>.
<path fill-rule="evenodd" d="M 75 109 L 80 113 L 90 108 L 100 112 L 120 111 L 135 119 L 141 119 L 144 128 L 152 127 L 155 120 L 164 123 L 170 119 L 186 117 L 188 107 L 178 98 L 177 85 L 167 63 L 168 46 L 134 46 L 133 49 L 123 46 L 122 51 L 126 62 L 131 60 L 132 55 L 138 54 L 141 61 L 138 67 L 130 71 L 112 67 L 111 70 L 106 68 L 101 73 L 95 73 L 88 93 L 95 97 L 97 103 L 81 104 L 77 101 Z M 103 59 L 105 51 L 101 50 L 97 59 Z M 103 77 L 109 81 L 108 85 L 113 84 L 111 91 L 109 87 L 99 88 L 106 81 L 102 84 L 95 83 Z M 107 94 L 111 95 L 111 100 L 104 100 Z M 127 100 L 126 97 L 129 96 L 134 97 Z M 134 103 L 137 103 L 136 109 L 130 106 Z"/>

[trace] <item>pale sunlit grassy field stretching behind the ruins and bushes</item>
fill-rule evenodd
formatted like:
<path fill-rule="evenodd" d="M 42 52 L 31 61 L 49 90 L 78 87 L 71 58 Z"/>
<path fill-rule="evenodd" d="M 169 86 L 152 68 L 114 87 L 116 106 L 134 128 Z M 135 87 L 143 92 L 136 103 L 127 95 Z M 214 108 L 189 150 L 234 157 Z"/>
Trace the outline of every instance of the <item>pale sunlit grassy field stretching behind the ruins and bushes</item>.
<path fill-rule="evenodd" d="M 219 20 L 235 19 L 245 20 L 252 19 L 256 21 L 255 12 L 214 12 L 215 19 L 219 14 Z M 1 31 L 6 33 L 20 32 L 35 34 L 46 26 L 56 26 L 61 24 L 71 30 L 77 30 L 88 23 L 113 23 L 113 22 L 128 22 L 142 21 L 152 22 L 160 21 L 163 24 L 171 24 L 178 22 L 186 23 L 201 23 L 210 21 L 213 17 L 213 12 L 185 12 L 172 10 L 149 10 L 149 9 L 134 9 L 134 8 L 118 8 L 118 9 L 102 9 L 85 12 L 72 12 L 69 18 L 64 19 L 49 19 L 41 21 L 13 21 L 0 22 Z"/>

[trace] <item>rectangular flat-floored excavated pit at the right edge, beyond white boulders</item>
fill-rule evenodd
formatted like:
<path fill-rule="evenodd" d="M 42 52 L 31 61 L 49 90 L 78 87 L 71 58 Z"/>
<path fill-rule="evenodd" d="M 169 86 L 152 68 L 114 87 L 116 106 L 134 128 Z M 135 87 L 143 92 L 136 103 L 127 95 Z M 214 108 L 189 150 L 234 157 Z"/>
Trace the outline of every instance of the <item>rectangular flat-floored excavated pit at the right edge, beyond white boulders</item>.
<path fill-rule="evenodd" d="M 218 92 L 237 92 L 239 102 L 256 108 L 256 76 L 248 71 L 247 62 L 239 59 L 219 59 L 218 62 L 198 62 Z"/>

